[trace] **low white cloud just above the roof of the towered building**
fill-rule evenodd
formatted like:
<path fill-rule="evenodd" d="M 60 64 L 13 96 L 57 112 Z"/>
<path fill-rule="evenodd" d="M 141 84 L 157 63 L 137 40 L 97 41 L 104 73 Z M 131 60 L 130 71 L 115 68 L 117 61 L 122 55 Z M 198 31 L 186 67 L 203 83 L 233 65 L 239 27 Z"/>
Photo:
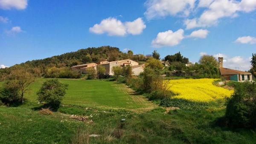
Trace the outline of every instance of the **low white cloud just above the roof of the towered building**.
<path fill-rule="evenodd" d="M 213 55 L 217 60 L 218 57 L 223 57 L 223 67 L 229 69 L 236 69 L 241 71 L 248 71 L 251 67 L 250 60 L 251 58 L 243 58 L 241 56 L 229 57 L 225 54 L 216 54 Z"/>

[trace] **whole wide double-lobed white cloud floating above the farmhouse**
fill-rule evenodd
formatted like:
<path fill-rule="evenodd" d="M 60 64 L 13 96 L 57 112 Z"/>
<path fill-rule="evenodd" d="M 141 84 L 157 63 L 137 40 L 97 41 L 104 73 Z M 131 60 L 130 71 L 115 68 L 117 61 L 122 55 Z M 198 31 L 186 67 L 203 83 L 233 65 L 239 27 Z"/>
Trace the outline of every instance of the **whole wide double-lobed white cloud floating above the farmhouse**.
<path fill-rule="evenodd" d="M 107 33 L 110 36 L 125 36 L 126 34 L 139 35 L 146 28 L 142 18 L 137 18 L 132 22 L 122 23 L 116 18 L 109 17 L 89 28 L 90 32 L 95 34 Z"/>

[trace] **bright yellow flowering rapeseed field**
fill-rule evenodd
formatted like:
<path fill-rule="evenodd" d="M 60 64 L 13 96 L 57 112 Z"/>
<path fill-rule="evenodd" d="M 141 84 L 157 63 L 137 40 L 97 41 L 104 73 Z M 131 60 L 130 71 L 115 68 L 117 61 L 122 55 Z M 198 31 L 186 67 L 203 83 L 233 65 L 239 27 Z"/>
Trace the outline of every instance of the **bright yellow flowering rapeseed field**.
<path fill-rule="evenodd" d="M 174 98 L 183 98 L 190 101 L 209 102 L 228 98 L 233 90 L 224 89 L 212 84 L 217 79 L 180 79 L 170 80 L 169 86 L 172 92 L 177 93 Z"/>

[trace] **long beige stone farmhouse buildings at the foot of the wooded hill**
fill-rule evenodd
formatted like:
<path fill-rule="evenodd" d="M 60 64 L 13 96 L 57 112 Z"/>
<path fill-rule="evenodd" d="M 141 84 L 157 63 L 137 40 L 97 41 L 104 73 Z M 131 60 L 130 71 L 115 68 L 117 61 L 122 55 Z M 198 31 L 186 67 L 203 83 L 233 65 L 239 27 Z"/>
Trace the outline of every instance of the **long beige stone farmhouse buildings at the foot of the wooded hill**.
<path fill-rule="evenodd" d="M 139 65 L 139 63 L 137 63 L 134 60 L 126 59 L 126 60 L 116 60 L 111 62 L 101 61 L 99 63 L 86 63 L 86 64 L 77 65 L 77 66 L 72 66 L 71 69 L 79 70 L 83 74 L 87 74 L 87 69 L 89 67 L 93 67 L 95 70 L 97 70 L 98 66 L 104 66 L 106 69 L 105 75 L 114 75 L 114 72 L 112 71 L 113 66 L 124 67 L 126 65 L 131 66 L 133 75 L 140 75 L 140 72 L 143 72 L 145 67 L 144 64 Z"/>

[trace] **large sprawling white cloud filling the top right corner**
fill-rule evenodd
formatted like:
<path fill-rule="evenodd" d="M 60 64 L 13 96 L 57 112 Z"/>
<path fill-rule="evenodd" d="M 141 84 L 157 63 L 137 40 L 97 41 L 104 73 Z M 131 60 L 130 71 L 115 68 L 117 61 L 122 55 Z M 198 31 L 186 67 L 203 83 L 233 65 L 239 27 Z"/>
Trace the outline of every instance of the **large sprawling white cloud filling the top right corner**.
<path fill-rule="evenodd" d="M 251 12 L 256 9 L 256 0 L 201 0 L 199 6 L 207 7 L 207 10 L 199 18 L 185 20 L 186 29 L 214 26 L 221 18 L 237 17 L 238 12 Z"/>

